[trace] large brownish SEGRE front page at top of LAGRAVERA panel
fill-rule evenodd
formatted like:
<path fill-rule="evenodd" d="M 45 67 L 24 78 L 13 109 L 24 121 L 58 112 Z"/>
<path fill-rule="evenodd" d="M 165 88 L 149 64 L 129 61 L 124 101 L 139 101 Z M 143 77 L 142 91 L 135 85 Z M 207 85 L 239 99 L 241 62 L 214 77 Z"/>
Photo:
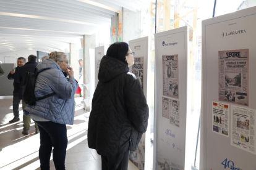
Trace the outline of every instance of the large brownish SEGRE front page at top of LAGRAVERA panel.
<path fill-rule="evenodd" d="M 249 106 L 249 49 L 219 51 L 219 100 Z"/>

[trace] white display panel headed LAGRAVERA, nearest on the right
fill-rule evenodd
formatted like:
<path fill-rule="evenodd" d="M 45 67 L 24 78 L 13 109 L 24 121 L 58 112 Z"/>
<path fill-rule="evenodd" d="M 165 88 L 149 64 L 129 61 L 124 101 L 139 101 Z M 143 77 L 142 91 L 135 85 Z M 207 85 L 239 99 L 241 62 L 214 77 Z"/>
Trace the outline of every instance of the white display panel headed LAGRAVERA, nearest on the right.
<path fill-rule="evenodd" d="M 202 22 L 200 169 L 256 168 L 255 20 L 251 7 Z M 213 102 L 229 105 L 228 137 L 213 132 Z"/>

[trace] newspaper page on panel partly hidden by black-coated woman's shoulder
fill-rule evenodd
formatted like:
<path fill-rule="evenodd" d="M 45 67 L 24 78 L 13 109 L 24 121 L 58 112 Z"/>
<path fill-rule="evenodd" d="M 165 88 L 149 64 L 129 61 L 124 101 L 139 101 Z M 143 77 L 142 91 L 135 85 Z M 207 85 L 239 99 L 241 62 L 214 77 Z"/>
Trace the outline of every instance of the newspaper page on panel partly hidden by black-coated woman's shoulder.
<path fill-rule="evenodd" d="M 144 73 L 144 57 L 134 57 L 134 65 L 132 65 L 132 73 L 137 76 L 143 89 L 143 73 Z"/>

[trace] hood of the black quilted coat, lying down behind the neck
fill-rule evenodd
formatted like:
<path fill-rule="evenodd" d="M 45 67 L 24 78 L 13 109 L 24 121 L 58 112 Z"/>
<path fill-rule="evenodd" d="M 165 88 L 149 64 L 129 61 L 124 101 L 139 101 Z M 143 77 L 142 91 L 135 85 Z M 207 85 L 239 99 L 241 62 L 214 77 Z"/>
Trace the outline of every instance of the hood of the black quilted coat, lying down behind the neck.
<path fill-rule="evenodd" d="M 102 83 L 106 83 L 111 81 L 111 79 L 116 78 L 116 76 L 121 75 L 122 73 L 127 73 L 128 71 L 129 67 L 126 63 L 105 55 L 100 62 L 98 79 Z"/>

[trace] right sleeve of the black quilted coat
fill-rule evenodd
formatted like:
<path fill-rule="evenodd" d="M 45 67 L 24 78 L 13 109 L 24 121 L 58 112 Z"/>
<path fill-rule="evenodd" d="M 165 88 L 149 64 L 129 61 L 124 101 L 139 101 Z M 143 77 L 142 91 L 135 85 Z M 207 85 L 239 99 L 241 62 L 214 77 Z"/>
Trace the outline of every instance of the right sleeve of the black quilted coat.
<path fill-rule="evenodd" d="M 138 132 L 146 132 L 148 127 L 148 105 L 138 79 L 127 85 L 125 104 L 129 120 Z"/>

